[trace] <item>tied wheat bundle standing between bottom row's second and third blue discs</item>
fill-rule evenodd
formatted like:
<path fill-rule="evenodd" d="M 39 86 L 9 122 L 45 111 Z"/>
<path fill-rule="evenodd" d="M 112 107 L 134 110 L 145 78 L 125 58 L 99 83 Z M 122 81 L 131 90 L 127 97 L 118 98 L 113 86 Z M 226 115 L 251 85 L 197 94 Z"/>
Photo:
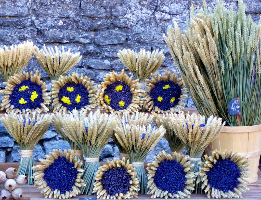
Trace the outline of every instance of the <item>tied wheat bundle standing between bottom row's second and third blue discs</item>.
<path fill-rule="evenodd" d="M 163 126 L 152 128 L 151 124 L 136 125 L 123 121 L 115 128 L 115 137 L 120 145 L 129 154 L 132 165 L 136 168 L 139 179 L 139 192 L 147 193 L 147 176 L 144 168 L 144 161 L 149 152 L 156 146 L 165 134 Z"/>

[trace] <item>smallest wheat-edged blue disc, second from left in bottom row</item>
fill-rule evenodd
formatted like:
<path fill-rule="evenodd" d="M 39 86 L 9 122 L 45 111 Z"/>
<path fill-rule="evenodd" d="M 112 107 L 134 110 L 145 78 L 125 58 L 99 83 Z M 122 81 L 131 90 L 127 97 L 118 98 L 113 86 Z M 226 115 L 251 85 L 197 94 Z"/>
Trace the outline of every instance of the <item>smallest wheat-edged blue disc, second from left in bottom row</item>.
<path fill-rule="evenodd" d="M 93 192 L 97 192 L 97 198 L 101 199 L 129 199 L 138 198 L 138 183 L 135 168 L 129 163 L 122 160 L 107 160 L 108 164 L 100 166 L 96 172 L 93 184 Z"/>

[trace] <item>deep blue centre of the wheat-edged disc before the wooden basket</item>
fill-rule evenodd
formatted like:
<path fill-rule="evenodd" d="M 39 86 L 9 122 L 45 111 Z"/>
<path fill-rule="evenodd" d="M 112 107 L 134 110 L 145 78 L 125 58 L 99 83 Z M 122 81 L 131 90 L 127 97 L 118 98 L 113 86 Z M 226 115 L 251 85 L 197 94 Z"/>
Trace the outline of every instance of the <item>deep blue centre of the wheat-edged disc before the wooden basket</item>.
<path fill-rule="evenodd" d="M 216 164 L 206 172 L 210 189 L 215 188 L 223 192 L 234 191 L 240 182 L 240 170 L 238 165 L 228 159 L 218 159 Z"/>

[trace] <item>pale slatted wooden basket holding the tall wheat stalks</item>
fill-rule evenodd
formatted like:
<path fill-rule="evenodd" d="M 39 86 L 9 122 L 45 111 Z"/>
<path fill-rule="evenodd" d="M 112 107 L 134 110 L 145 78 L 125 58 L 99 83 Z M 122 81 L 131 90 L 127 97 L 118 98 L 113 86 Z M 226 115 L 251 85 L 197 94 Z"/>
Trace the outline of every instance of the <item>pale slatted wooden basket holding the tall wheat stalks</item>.
<path fill-rule="evenodd" d="M 225 126 L 219 136 L 206 148 L 206 154 L 212 155 L 213 150 L 221 152 L 232 150 L 246 159 L 250 159 L 250 183 L 257 181 L 257 171 L 261 154 L 261 124 L 255 126 Z"/>

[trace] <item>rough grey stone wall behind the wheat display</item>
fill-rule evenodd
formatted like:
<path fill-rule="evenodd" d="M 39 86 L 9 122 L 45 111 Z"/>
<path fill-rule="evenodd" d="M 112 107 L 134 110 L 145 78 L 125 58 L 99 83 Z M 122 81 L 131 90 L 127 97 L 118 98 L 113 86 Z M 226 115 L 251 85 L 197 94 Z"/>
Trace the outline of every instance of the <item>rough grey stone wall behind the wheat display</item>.
<path fill-rule="evenodd" d="M 211 7 L 216 1 L 207 0 Z M 260 0 L 244 0 L 246 12 L 257 20 L 261 12 Z M 117 58 L 123 48 L 139 50 L 164 49 L 165 61 L 158 70 L 176 71 L 173 60 L 164 43 L 162 33 L 172 20 L 185 29 L 191 3 L 202 6 L 201 0 L 2 0 L 0 2 L 0 45 L 9 45 L 30 40 L 37 46 L 64 45 L 72 52 L 81 52 L 82 60 L 71 72 L 83 73 L 96 83 L 110 70 L 120 71 L 124 66 Z M 224 0 L 228 7 L 237 8 L 236 0 Z M 26 71 L 39 69 L 42 78 L 50 79 L 32 57 Z M 126 68 L 124 68 L 126 69 Z M 128 74 L 130 74 L 127 71 Z M 0 87 L 3 79 L 0 78 Z M 191 98 L 186 106 L 193 107 Z M 0 124 L 0 162 L 19 162 L 18 145 Z M 69 148 L 56 131 L 50 127 L 44 138 L 35 146 L 34 158 L 38 161 L 53 148 Z M 161 150 L 170 151 L 165 139 L 147 157 Z M 118 149 L 112 140 L 105 146 L 101 160 L 119 157 Z"/>

